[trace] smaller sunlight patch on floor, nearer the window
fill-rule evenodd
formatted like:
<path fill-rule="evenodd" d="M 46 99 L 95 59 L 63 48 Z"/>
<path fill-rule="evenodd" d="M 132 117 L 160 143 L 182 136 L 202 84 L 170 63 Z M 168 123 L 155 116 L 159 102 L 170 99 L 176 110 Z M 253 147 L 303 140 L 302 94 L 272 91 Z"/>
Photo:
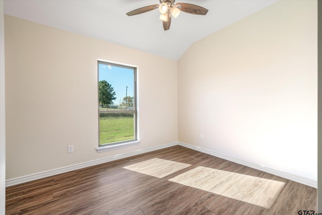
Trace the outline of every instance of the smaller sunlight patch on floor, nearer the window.
<path fill-rule="evenodd" d="M 159 158 L 153 158 L 137 164 L 123 167 L 128 170 L 154 176 L 157 178 L 166 177 L 184 168 L 190 167 L 190 164 L 168 161 Z"/>

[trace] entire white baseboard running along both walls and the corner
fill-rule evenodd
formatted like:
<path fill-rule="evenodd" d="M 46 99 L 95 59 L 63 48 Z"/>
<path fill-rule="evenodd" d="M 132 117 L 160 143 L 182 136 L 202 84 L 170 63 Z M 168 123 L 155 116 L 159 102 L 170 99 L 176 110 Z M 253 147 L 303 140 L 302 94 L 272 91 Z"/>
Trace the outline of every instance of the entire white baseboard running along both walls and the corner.
<path fill-rule="evenodd" d="M 108 158 L 103 158 L 103 159 L 99 159 L 99 160 L 95 160 L 95 161 L 89 161 L 89 162 L 85 162 L 85 163 L 81 163 L 81 164 L 75 164 L 75 165 L 71 165 L 71 166 L 67 166 L 67 167 L 62 167 L 62 168 L 58 168 L 58 169 L 54 169 L 54 170 L 48 170 L 45 172 L 40 172 L 40 173 L 36 173 L 36 174 L 32 174 L 32 175 L 27 175 L 27 176 L 22 176 L 22 177 L 18 177 L 18 178 L 13 178 L 13 179 L 9 179 L 6 180 L 6 187 L 9 186 L 13 186 L 13 185 L 17 185 L 17 184 L 22 184 L 25 182 L 29 182 L 29 181 L 34 181 L 37 179 L 42 179 L 42 178 L 46 178 L 49 176 L 54 176 L 54 175 L 58 175 L 61 173 L 66 173 L 66 172 L 70 172 L 70 171 L 74 171 L 74 170 L 78 170 L 78 169 L 82 169 L 82 168 L 86 168 L 86 167 L 91 167 L 91 166 L 95 166 L 98 164 L 103 164 L 103 163 L 107 163 L 107 162 L 111 162 L 111 161 L 116 161 L 119 159 L 123 159 L 123 158 L 128 158 L 131 156 L 135 156 L 135 155 L 140 155 L 143 153 L 147 153 L 147 152 L 152 152 L 155 150 L 160 150 L 160 149 L 165 149 L 168 147 L 173 147 L 173 146 L 182 146 L 182 147 L 186 147 L 192 150 L 196 150 L 198 152 L 202 152 L 202 153 L 206 153 L 208 155 L 212 155 L 218 158 L 222 158 L 225 159 L 227 161 L 231 161 L 237 164 L 241 164 L 247 167 L 251 167 L 263 172 L 267 172 L 276 176 L 280 176 L 282 178 L 285 179 L 289 179 L 291 181 L 295 181 L 301 184 L 305 184 L 308 185 L 310 187 L 314 187 L 317 188 L 317 181 L 316 180 L 312 180 L 312 179 L 308 179 L 308 178 L 304 178 L 302 176 L 298 176 L 298 175 L 294 175 L 294 174 L 290 174 L 290 173 L 286 173 L 286 172 L 281 172 L 279 170 L 274 170 L 274 169 L 270 169 L 267 167 L 262 167 L 260 165 L 257 164 L 253 164 L 253 163 L 249 163 L 246 161 L 242 161 L 242 160 L 238 160 L 229 156 L 225 156 L 210 150 L 206 150 L 200 147 L 196 147 L 196 146 L 192 146 L 189 144 L 185 144 L 184 142 L 171 142 L 170 144 L 166 144 L 166 145 L 161 145 L 161 146 L 157 146 L 157 147 L 152 147 L 152 148 L 148 148 L 148 149 L 143 149 L 143 150 L 138 150 L 135 152 L 131 152 L 131 153 L 126 153 L 126 154 L 121 154 L 121 155 L 117 155 L 117 156 L 113 156 L 113 157 L 108 157 Z"/>

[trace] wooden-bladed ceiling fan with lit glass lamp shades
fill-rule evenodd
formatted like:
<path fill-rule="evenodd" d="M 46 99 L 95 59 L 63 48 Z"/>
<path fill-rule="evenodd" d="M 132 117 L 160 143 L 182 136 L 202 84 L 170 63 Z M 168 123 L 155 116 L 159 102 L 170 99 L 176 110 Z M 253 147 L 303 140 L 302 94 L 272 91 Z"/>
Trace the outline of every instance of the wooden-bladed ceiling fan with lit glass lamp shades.
<path fill-rule="evenodd" d="M 194 15 L 206 15 L 208 10 L 200 7 L 198 5 L 188 4 L 188 3 L 177 3 L 175 5 L 176 0 L 159 0 L 160 5 L 150 5 L 143 8 L 136 9 L 134 11 L 128 12 L 127 16 L 133 16 L 138 14 L 143 14 L 154 9 L 159 9 L 161 15 L 159 17 L 160 20 L 163 21 L 163 28 L 165 31 L 170 29 L 171 25 L 171 15 L 174 18 L 177 18 L 180 14 L 180 11 L 194 14 Z"/>

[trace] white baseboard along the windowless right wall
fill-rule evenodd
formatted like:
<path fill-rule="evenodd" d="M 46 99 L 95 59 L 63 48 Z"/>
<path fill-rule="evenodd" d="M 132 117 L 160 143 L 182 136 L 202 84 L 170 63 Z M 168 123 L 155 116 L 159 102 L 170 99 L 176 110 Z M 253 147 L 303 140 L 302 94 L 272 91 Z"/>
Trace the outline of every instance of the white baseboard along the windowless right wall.
<path fill-rule="evenodd" d="M 298 175 L 294 175 L 294 174 L 290 174 L 290 173 L 286 173 L 286 172 L 281 172 L 279 170 L 271 169 L 271 168 L 268 168 L 268 167 L 263 167 L 263 166 L 253 164 L 253 163 L 250 163 L 250 162 L 247 162 L 247 161 L 242 161 L 242 160 L 239 160 L 239 159 L 235 159 L 235 158 L 225 156 L 225 155 L 222 155 L 222 154 L 210 151 L 210 150 L 200 148 L 200 147 L 185 144 L 184 142 L 178 142 L 178 145 L 182 146 L 182 147 L 192 149 L 192 150 L 196 150 L 198 152 L 206 153 L 208 155 L 212 155 L 212 156 L 215 156 L 215 157 L 218 157 L 218 158 L 222 158 L 222 159 L 225 159 L 227 161 L 231 161 L 231 162 L 234 162 L 234 163 L 237 163 L 237 164 L 241 164 L 241 165 L 244 165 L 244 166 L 247 166 L 247 167 L 251 167 L 253 169 L 257 169 L 257 170 L 260 170 L 260 171 L 263 171 L 263 172 L 267 172 L 267 173 L 270 173 L 270 174 L 273 174 L 273 175 L 276 175 L 276 176 L 279 176 L 279 177 L 282 177 L 282 178 L 285 178 L 285 179 L 289 179 L 291 181 L 295 181 L 295 182 L 298 182 L 298 183 L 301 183 L 301 184 L 304 184 L 304 185 L 307 185 L 307 186 L 310 186 L 310 187 L 317 188 L 317 181 L 316 180 L 312 180 L 312 179 L 309 179 L 309 178 L 305 178 L 305 177 L 302 177 L 302 176 L 298 176 Z"/>

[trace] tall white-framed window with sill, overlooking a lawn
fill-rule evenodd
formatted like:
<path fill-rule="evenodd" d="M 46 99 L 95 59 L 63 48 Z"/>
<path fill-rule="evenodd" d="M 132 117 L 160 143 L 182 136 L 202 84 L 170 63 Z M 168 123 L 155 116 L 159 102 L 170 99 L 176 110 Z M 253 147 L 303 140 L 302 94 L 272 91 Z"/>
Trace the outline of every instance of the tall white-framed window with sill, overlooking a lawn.
<path fill-rule="evenodd" d="M 136 67 L 98 61 L 99 149 L 137 142 Z"/>

